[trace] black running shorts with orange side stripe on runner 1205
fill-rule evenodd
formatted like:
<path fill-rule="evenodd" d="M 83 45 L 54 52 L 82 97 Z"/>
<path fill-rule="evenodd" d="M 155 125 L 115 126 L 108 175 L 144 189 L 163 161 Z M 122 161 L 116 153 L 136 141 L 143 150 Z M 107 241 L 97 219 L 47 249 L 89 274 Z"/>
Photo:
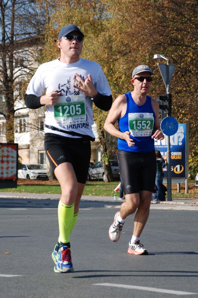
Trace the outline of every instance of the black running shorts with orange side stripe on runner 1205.
<path fill-rule="evenodd" d="M 74 168 L 77 181 L 86 183 L 91 158 L 90 141 L 46 133 L 45 151 L 53 170 L 63 162 L 70 162 Z"/>

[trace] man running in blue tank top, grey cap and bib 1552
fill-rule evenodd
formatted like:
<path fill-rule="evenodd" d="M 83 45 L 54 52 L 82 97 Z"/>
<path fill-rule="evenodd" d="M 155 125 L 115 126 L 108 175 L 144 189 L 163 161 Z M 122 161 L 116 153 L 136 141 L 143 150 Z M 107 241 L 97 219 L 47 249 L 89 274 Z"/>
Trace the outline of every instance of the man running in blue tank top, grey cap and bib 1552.
<path fill-rule="evenodd" d="M 155 186 L 154 138 L 164 139 L 160 129 L 158 103 L 147 95 L 153 74 L 146 65 L 139 65 L 133 70 L 131 83 L 134 90 L 115 99 L 104 125 L 107 132 L 118 138 L 118 162 L 125 193 L 125 202 L 115 214 L 109 237 L 111 241 L 117 242 L 125 219 L 137 210 L 127 251 L 135 255 L 148 255 L 140 243 L 140 234 L 149 217 Z M 117 120 L 118 129 L 114 126 Z"/>

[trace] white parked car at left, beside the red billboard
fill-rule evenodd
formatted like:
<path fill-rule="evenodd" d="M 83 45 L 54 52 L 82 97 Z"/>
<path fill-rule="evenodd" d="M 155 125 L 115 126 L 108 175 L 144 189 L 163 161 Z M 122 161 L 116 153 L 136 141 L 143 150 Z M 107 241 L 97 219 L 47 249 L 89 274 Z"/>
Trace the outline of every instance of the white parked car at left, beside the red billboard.
<path fill-rule="evenodd" d="M 23 164 L 18 169 L 18 178 L 49 180 L 49 173 L 43 165 L 40 164 Z"/>

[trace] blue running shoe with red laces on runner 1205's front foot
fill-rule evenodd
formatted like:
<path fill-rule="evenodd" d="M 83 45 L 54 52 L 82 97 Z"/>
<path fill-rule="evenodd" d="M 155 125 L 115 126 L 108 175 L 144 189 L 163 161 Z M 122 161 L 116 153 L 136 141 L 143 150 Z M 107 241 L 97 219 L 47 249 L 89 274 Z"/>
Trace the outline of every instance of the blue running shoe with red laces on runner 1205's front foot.
<path fill-rule="evenodd" d="M 62 246 L 58 250 L 56 256 L 56 264 L 54 266 L 54 272 L 56 273 L 69 273 L 73 272 L 73 264 L 71 262 L 71 251 L 67 246 Z"/>

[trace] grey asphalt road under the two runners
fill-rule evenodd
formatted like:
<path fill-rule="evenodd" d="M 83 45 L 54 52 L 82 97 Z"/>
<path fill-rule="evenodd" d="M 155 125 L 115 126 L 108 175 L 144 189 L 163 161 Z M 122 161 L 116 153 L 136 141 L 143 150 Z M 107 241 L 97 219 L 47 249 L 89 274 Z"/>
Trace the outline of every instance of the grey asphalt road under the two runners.
<path fill-rule="evenodd" d="M 75 272 L 58 274 L 51 259 L 57 209 L 0 208 L 0 297 L 198 297 L 197 212 L 151 210 L 140 239 L 149 255 L 136 256 L 127 254 L 134 215 L 118 242 L 109 239 L 117 211 L 80 209 L 71 236 Z"/>

